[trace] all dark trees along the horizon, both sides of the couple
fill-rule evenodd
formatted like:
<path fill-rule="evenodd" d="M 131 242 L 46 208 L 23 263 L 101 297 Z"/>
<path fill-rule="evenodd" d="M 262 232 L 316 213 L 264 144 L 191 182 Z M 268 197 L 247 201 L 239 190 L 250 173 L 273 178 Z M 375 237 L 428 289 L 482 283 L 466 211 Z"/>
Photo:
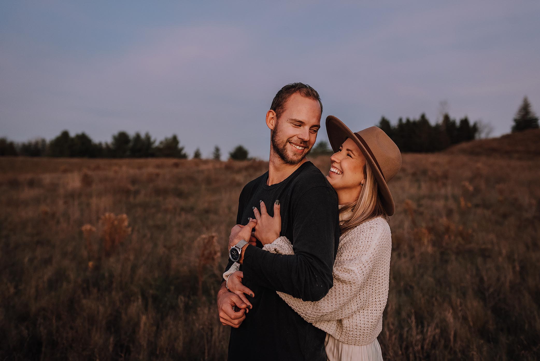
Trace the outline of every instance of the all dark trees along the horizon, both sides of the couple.
<path fill-rule="evenodd" d="M 434 125 L 429 122 L 426 114 L 421 114 L 418 119 L 403 120 L 400 117 L 396 124 L 390 123 L 386 117 L 382 116 L 377 126 L 384 130 L 401 152 L 437 152 L 457 143 L 474 140 L 482 135 L 487 136 L 492 129 L 489 124 L 480 121 L 471 123 L 467 116 L 459 121 L 451 119 L 448 113 L 444 113 L 442 120 Z M 525 96 L 514 117 L 511 130 L 514 133 L 534 128 L 538 128 L 538 116 Z M 246 160 L 249 159 L 248 154 L 248 150 L 239 145 L 229 153 L 229 157 L 234 160 Z M 332 149 L 329 148 L 328 142 L 320 141 L 313 147 L 311 154 L 332 154 Z M 180 146 L 180 140 L 176 134 L 156 143 L 156 139 L 153 139 L 148 132 L 144 135 L 139 132 L 129 135 L 122 131 L 113 135 L 111 142 L 96 143 L 84 132 L 71 136 L 68 130 L 64 130 L 49 142 L 40 138 L 16 143 L 5 137 L 0 138 L 0 155 L 184 159 L 188 157 L 184 147 Z M 201 158 L 199 148 L 193 153 L 193 158 Z M 218 146 L 214 147 L 212 159 L 221 160 L 221 149 Z"/>

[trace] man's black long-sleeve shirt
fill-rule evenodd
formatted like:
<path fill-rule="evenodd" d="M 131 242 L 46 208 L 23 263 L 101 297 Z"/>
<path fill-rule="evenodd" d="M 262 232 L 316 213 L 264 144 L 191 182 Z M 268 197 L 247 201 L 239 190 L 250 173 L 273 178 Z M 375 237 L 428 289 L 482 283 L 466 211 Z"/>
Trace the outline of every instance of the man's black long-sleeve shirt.
<path fill-rule="evenodd" d="M 312 162 L 303 163 L 285 180 L 266 185 L 268 172 L 247 183 L 240 193 L 237 224 L 254 216 L 265 202 L 273 216 L 281 205 L 281 233 L 294 254 L 282 255 L 247 246 L 241 266 L 244 284 L 255 297 L 253 309 L 231 330 L 229 359 L 326 360 L 326 333 L 303 320 L 275 291 L 315 301 L 332 287 L 332 268 L 339 242 L 338 197 Z M 227 269 L 232 261 L 227 265 Z"/>

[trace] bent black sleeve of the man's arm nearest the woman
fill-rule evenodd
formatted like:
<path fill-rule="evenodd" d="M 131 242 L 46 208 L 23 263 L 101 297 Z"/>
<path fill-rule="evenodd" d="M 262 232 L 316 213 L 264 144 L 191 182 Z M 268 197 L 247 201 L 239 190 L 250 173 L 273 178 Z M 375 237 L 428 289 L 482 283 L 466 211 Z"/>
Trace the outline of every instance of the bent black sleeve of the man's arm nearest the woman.
<path fill-rule="evenodd" d="M 338 199 L 317 186 L 299 195 L 293 207 L 294 254 L 275 254 L 248 245 L 244 280 L 303 300 L 320 300 L 332 287 Z"/>

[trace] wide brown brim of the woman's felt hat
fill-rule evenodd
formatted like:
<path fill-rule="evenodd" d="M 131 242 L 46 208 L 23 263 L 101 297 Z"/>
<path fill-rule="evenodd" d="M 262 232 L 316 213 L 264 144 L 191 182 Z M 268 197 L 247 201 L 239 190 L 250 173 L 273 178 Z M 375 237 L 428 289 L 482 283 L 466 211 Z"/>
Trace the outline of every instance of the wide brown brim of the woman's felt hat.
<path fill-rule="evenodd" d="M 392 198 L 392 193 L 390 193 L 390 188 L 384 180 L 384 176 L 379 170 L 379 167 L 376 166 L 375 160 L 369 154 L 366 147 L 360 142 L 355 133 L 353 133 L 341 120 L 336 118 L 333 115 L 326 117 L 326 133 L 328 134 L 328 140 L 330 141 L 330 147 L 334 152 L 338 152 L 339 147 L 347 140 L 347 138 L 352 139 L 356 145 L 360 148 L 363 156 L 366 158 L 366 162 L 373 170 L 375 179 L 377 180 L 377 185 L 379 185 L 379 194 L 381 196 L 382 206 L 388 215 L 393 215 L 396 211 L 394 204 L 394 199 Z"/>

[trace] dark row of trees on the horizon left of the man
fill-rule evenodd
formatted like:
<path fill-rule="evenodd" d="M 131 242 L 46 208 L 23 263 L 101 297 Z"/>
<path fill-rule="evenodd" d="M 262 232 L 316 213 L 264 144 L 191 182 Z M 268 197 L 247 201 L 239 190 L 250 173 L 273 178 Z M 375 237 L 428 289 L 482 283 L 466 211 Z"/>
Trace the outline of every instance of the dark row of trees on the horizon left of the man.
<path fill-rule="evenodd" d="M 89 157 L 89 158 L 148 158 L 174 157 L 187 159 L 184 147 L 176 134 L 157 142 L 150 133 L 139 132 L 130 135 L 118 132 L 112 136 L 111 142 L 94 142 L 86 133 L 73 136 L 63 130 L 50 141 L 43 138 L 17 143 L 0 138 L 0 155 L 51 156 L 51 157 Z M 202 156 L 199 148 L 195 149 L 193 159 Z M 235 147 L 229 156 L 234 160 L 248 159 L 248 150 L 242 146 Z M 221 149 L 214 147 L 212 158 L 221 160 Z"/>

